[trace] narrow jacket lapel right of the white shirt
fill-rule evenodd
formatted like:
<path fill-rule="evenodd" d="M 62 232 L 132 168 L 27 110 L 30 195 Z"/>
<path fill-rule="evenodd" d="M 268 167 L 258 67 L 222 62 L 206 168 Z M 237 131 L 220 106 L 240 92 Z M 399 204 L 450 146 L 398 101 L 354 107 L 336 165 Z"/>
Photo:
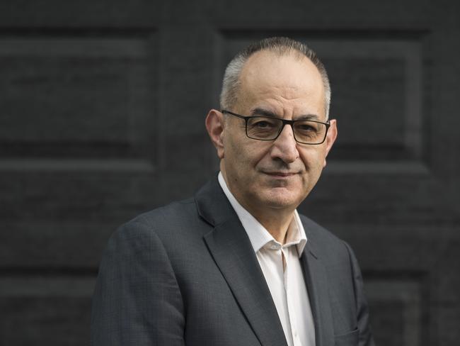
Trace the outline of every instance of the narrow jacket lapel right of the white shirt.
<path fill-rule="evenodd" d="M 306 225 L 304 228 L 307 233 Z M 309 292 L 311 313 L 315 323 L 316 346 L 334 345 L 333 319 L 330 313 L 328 277 L 321 259 L 316 256 L 314 242 L 308 238 L 301 256 L 304 279 Z"/>

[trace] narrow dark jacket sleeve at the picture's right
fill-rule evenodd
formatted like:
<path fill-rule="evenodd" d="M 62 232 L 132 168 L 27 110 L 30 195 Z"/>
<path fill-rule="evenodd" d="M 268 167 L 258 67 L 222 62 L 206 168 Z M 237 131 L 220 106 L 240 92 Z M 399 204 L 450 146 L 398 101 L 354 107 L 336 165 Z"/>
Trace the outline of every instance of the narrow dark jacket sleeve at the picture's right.
<path fill-rule="evenodd" d="M 369 323 L 369 306 L 367 299 L 364 296 L 364 289 L 362 284 L 362 275 L 360 265 L 357 262 L 355 253 L 350 245 L 345 242 L 345 245 L 350 255 L 350 263 L 352 266 L 353 285 L 355 287 L 355 302 L 356 302 L 356 315 L 357 327 L 360 330 L 360 343 L 359 346 L 375 346 L 374 337 Z"/>

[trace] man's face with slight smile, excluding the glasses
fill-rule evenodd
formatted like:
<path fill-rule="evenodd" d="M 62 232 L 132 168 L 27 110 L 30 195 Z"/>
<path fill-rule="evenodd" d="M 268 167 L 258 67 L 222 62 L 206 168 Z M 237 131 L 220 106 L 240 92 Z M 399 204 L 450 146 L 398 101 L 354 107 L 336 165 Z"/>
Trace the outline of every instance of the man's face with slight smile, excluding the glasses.
<path fill-rule="evenodd" d="M 326 121 L 321 75 L 306 57 L 261 51 L 241 72 L 234 113 Z M 335 121 L 321 145 L 299 144 L 285 125 L 276 140 L 248 138 L 245 122 L 227 115 L 222 132 L 221 170 L 236 199 L 251 213 L 297 208 L 318 181 L 335 140 Z"/>

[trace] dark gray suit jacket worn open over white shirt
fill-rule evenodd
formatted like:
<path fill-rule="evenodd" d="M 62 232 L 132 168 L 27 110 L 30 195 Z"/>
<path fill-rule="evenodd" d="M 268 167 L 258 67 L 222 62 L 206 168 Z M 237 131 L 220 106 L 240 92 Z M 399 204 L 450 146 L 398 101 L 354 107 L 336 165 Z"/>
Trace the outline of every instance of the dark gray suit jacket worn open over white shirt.
<path fill-rule="evenodd" d="M 350 247 L 301 216 L 316 346 L 374 345 Z M 118 229 L 100 264 L 91 345 L 285 346 L 255 252 L 217 179 Z"/>

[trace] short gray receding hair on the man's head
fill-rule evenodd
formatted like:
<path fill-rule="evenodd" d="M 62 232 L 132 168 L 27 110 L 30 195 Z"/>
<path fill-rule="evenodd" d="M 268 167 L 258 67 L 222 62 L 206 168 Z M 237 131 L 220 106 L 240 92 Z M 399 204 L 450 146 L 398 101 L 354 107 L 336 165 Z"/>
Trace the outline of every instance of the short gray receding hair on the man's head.
<path fill-rule="evenodd" d="M 238 101 L 238 89 L 240 87 L 240 74 L 244 64 L 251 55 L 260 50 L 269 50 L 275 52 L 277 55 L 289 55 L 293 52 L 297 52 L 300 56 L 306 56 L 318 69 L 321 74 L 324 86 L 324 109 L 326 113 L 326 120 L 329 117 L 330 107 L 330 84 L 328 73 L 321 60 L 319 60 L 316 52 L 311 50 L 304 43 L 292 40 L 291 38 L 274 37 L 265 38 L 247 48 L 241 50 L 236 56 L 229 62 L 225 69 L 224 80 L 222 82 L 222 92 L 220 94 L 220 107 L 221 109 L 231 109 Z"/>

